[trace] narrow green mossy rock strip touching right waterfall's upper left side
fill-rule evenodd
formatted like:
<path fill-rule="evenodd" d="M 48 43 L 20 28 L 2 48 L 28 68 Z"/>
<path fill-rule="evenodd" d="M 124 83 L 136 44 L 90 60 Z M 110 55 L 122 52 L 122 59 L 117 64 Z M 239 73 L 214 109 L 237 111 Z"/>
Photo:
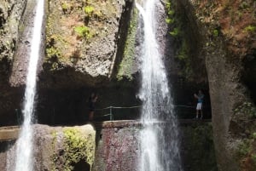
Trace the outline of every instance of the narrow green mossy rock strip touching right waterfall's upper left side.
<path fill-rule="evenodd" d="M 135 41 L 137 33 L 137 16 L 138 11 L 134 9 L 132 13 L 132 18 L 130 21 L 130 26 L 128 29 L 128 35 L 125 41 L 124 57 L 119 65 L 119 71 L 117 74 L 118 80 L 123 79 L 123 77 L 132 79 L 132 65 L 135 63 Z"/>

